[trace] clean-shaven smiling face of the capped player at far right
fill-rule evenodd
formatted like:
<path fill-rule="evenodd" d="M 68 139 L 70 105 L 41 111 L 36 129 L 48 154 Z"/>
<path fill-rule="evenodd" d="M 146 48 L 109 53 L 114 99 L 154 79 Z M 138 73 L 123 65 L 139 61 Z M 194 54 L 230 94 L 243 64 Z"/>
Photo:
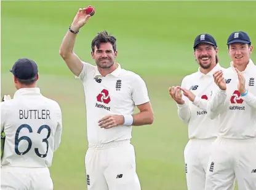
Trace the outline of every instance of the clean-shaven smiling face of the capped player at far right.
<path fill-rule="evenodd" d="M 250 44 L 234 43 L 228 46 L 228 55 L 230 55 L 234 67 L 249 63 L 250 53 L 253 47 Z"/>

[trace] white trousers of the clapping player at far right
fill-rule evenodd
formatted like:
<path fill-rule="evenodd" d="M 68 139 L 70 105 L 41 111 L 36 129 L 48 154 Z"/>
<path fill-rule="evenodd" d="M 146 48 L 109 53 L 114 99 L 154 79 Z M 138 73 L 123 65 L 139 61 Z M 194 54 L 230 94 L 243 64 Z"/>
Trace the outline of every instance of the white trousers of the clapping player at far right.
<path fill-rule="evenodd" d="M 212 144 L 206 175 L 206 190 L 256 189 L 256 139 L 225 139 Z"/>

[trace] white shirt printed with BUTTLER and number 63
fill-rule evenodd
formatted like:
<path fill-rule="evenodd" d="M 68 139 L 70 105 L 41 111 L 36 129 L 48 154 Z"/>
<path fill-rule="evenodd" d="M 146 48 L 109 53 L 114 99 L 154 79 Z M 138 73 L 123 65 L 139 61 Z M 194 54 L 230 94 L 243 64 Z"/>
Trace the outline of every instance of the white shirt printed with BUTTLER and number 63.
<path fill-rule="evenodd" d="M 1 102 L 1 131 L 6 133 L 1 165 L 50 167 L 60 145 L 62 112 L 39 88 L 21 88 Z"/>

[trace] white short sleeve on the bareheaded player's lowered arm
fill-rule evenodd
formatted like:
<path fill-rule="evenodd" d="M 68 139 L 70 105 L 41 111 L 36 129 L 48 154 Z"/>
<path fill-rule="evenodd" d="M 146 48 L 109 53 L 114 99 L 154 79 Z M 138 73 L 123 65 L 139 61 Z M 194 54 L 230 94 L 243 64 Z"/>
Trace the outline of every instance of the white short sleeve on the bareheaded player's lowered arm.
<path fill-rule="evenodd" d="M 139 75 L 135 76 L 132 85 L 132 100 L 134 101 L 135 105 L 141 105 L 145 104 L 146 102 L 150 102 L 146 83 Z"/>

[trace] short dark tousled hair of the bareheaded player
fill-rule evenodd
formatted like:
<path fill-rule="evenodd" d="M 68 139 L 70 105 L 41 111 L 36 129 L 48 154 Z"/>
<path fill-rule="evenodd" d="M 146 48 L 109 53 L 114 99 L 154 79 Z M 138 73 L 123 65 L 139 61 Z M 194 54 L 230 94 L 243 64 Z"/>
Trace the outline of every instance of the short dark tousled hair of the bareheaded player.
<path fill-rule="evenodd" d="M 97 36 L 92 40 L 92 51 L 94 52 L 95 46 L 100 48 L 100 44 L 110 42 L 113 46 L 113 50 L 116 51 L 116 38 L 114 36 L 108 35 L 108 32 L 99 32 Z"/>

